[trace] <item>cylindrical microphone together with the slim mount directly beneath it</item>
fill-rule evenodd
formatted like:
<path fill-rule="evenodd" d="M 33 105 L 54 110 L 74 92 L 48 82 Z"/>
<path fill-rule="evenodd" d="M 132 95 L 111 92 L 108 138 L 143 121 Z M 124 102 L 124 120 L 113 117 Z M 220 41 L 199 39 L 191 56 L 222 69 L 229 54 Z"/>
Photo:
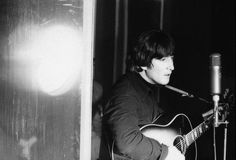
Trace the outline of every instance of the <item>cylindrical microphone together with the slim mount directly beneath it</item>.
<path fill-rule="evenodd" d="M 219 126 L 218 106 L 221 94 L 221 55 L 214 53 L 210 55 L 210 76 L 212 100 L 214 102 L 214 126 Z"/>

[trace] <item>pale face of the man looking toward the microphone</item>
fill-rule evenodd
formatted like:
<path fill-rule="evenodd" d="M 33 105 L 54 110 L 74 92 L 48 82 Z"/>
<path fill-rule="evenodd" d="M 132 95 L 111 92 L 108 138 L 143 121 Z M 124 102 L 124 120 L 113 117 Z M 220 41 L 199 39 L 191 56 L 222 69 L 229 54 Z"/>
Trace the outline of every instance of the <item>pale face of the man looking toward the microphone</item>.
<path fill-rule="evenodd" d="M 152 59 L 151 66 L 145 69 L 145 79 L 152 84 L 166 85 L 174 70 L 173 56 Z"/>

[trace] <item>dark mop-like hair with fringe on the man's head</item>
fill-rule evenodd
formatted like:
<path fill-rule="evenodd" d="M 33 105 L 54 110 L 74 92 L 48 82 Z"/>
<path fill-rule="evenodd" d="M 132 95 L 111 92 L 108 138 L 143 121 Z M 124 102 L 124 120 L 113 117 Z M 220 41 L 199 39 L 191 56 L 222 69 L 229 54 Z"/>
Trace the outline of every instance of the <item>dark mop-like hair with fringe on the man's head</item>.
<path fill-rule="evenodd" d="M 161 59 L 172 56 L 174 40 L 164 31 L 151 30 L 142 33 L 131 55 L 131 70 L 141 72 L 143 67 L 150 67 L 153 58 Z"/>

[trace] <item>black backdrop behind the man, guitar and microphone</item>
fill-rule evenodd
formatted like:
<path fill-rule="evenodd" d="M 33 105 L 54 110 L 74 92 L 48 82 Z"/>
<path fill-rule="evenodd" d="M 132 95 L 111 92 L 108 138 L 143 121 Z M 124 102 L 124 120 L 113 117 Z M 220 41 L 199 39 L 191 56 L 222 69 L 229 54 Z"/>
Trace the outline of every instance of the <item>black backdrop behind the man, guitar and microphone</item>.
<path fill-rule="evenodd" d="M 114 60 L 116 43 L 120 43 L 125 32 L 117 25 L 116 6 L 119 2 L 119 25 L 124 26 L 124 13 L 128 13 L 127 49 L 119 50 L 118 57 L 129 55 L 133 40 L 141 32 L 160 27 L 160 1 L 129 0 L 124 9 L 124 1 L 98 0 L 95 27 L 95 80 L 104 89 L 104 99 L 109 94 L 114 74 L 119 77 L 122 72 L 122 60 Z M 123 7 L 123 10 L 122 10 Z M 222 92 L 235 87 L 235 1 L 228 0 L 166 0 L 164 1 L 163 29 L 168 31 L 176 41 L 175 71 L 170 85 L 204 98 L 211 102 L 209 55 L 220 53 L 222 60 Z M 118 42 L 115 39 L 118 39 Z M 121 38 L 121 39 L 122 39 Z M 118 45 L 119 46 L 119 45 Z M 122 46 L 120 46 L 122 48 Z M 116 48 L 117 49 L 117 48 Z M 124 54 L 125 53 L 125 54 Z M 120 58 L 122 59 L 122 58 Z M 117 62 L 118 61 L 118 62 Z M 115 66 L 114 66 L 115 65 Z M 117 67 L 118 66 L 118 67 Z M 114 73 L 115 72 L 115 73 Z M 167 97 L 168 96 L 168 97 Z M 168 109 L 186 113 L 193 126 L 203 121 L 202 114 L 213 108 L 205 102 L 181 97 L 177 93 L 164 90 L 161 97 Z M 235 159 L 235 110 L 228 116 L 227 159 Z M 217 158 L 223 159 L 224 125 L 216 128 Z M 213 130 L 197 140 L 198 159 L 213 159 Z"/>

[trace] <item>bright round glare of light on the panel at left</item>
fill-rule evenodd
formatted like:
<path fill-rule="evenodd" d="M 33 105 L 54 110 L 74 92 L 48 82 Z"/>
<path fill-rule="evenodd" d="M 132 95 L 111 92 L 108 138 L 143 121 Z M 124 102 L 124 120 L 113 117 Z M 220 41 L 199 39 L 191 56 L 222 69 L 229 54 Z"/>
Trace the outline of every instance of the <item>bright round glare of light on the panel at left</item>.
<path fill-rule="evenodd" d="M 67 92 L 79 78 L 82 34 L 69 26 L 51 26 L 34 34 L 21 50 L 36 86 L 50 95 Z M 23 62 L 23 61 L 22 61 Z"/>

